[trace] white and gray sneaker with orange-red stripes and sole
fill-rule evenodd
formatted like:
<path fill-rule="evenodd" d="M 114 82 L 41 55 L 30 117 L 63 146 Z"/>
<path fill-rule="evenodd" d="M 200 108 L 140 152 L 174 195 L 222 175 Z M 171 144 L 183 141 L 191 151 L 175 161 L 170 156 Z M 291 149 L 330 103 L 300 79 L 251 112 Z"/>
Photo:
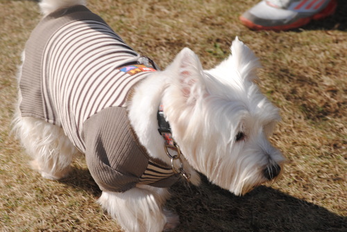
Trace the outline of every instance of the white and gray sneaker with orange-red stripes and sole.
<path fill-rule="evenodd" d="M 336 0 L 263 0 L 239 19 L 253 30 L 289 30 L 332 15 Z"/>

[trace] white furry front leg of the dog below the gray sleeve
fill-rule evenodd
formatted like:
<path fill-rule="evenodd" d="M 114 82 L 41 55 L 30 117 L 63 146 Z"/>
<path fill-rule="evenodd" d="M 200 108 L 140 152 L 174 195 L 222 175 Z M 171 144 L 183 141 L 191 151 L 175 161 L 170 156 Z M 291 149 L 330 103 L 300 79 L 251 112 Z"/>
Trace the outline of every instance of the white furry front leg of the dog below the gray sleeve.
<path fill-rule="evenodd" d="M 124 193 L 103 192 L 98 202 L 129 232 L 159 232 L 174 229 L 178 216 L 163 210 L 169 198 L 166 188 L 138 185 Z"/>

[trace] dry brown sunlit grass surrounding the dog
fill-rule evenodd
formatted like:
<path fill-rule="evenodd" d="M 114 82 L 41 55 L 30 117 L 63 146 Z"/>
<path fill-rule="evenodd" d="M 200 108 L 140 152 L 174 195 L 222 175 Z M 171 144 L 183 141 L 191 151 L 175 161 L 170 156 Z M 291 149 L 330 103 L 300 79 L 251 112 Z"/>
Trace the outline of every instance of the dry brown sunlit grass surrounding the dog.
<path fill-rule="evenodd" d="M 176 231 L 346 231 L 347 3 L 334 16 L 288 32 L 255 32 L 238 16 L 248 1 L 90 1 L 136 51 L 167 66 L 185 46 L 205 69 L 235 36 L 264 66 L 262 91 L 281 109 L 272 142 L 287 157 L 283 177 L 236 197 L 204 180 L 178 183 L 168 206 Z M 64 181 L 46 181 L 10 134 L 20 54 L 39 21 L 35 1 L 0 0 L 0 231 L 120 231 L 95 203 L 101 192 L 83 158 Z"/>

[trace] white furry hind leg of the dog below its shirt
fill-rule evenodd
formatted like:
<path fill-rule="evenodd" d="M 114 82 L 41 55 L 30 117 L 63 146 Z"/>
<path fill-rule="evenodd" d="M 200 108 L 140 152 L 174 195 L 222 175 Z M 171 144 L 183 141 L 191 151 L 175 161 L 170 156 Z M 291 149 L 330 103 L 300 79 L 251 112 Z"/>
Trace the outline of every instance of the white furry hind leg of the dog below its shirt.
<path fill-rule="evenodd" d="M 19 109 L 13 123 L 17 137 L 33 158 L 31 166 L 46 179 L 66 177 L 78 150 L 62 129 L 38 118 L 22 117 Z"/>

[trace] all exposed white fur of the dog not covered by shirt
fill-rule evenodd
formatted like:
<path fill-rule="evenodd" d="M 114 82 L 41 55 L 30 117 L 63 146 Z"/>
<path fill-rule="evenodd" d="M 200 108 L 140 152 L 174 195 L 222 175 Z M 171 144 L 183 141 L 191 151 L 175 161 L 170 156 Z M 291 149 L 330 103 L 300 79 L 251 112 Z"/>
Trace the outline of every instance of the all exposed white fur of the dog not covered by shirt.
<path fill-rule="evenodd" d="M 85 1 L 44 0 L 40 7 L 47 15 L 76 4 Z M 275 164 L 282 168 L 284 158 L 268 141 L 280 116 L 253 82 L 260 64 L 237 38 L 230 50 L 228 59 L 204 71 L 194 52 L 184 48 L 167 69 L 137 84 L 128 115 L 149 155 L 170 163 L 157 130 L 156 114 L 162 102 L 192 184 L 200 182 L 198 170 L 221 188 L 242 195 L 268 181 L 264 170 L 273 170 Z M 19 105 L 14 124 L 42 177 L 60 179 L 68 174 L 78 151 L 60 127 L 23 118 Z M 245 136 L 235 141 L 239 132 Z M 177 215 L 164 210 L 168 198 L 167 189 L 138 185 L 124 193 L 103 192 L 98 202 L 126 231 L 153 232 L 179 223 Z"/>

